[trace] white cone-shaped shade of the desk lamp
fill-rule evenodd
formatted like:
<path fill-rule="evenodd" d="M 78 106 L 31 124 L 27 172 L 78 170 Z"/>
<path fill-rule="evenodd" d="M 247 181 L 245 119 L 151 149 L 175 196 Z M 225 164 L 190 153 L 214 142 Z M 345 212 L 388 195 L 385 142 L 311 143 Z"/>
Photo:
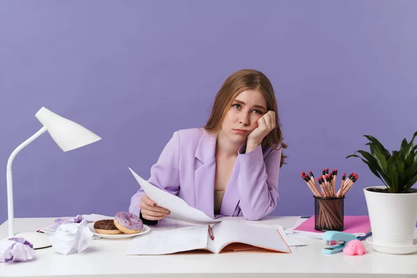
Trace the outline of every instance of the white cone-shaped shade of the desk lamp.
<path fill-rule="evenodd" d="M 35 117 L 47 128 L 52 139 L 64 152 L 101 140 L 101 137 L 80 124 L 65 119 L 47 108 L 40 108 Z"/>

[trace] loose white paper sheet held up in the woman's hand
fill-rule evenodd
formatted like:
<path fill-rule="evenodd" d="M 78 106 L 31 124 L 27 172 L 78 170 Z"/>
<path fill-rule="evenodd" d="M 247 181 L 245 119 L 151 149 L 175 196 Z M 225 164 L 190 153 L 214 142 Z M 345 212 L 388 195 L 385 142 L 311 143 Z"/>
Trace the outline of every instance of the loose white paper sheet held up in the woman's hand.
<path fill-rule="evenodd" d="M 136 172 L 131 170 L 131 168 L 129 168 L 129 170 L 150 199 L 154 200 L 158 206 L 167 208 L 171 211 L 171 214 L 167 216 L 168 218 L 201 223 L 215 223 L 220 221 L 208 217 L 205 213 L 192 206 L 188 206 L 183 199 L 153 186 L 151 183 L 145 181 L 145 179 L 139 177 Z"/>

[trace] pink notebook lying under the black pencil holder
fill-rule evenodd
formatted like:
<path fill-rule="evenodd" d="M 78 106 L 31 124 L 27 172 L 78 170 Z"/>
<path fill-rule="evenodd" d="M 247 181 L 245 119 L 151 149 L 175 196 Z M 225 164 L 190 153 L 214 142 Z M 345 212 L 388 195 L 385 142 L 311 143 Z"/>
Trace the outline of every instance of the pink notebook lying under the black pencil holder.
<path fill-rule="evenodd" d="M 354 234 L 355 236 L 366 236 L 370 232 L 370 221 L 368 215 L 347 215 L 343 218 L 343 233 Z M 299 226 L 293 229 L 294 234 L 306 236 L 322 236 L 324 231 L 314 229 L 314 215 Z"/>

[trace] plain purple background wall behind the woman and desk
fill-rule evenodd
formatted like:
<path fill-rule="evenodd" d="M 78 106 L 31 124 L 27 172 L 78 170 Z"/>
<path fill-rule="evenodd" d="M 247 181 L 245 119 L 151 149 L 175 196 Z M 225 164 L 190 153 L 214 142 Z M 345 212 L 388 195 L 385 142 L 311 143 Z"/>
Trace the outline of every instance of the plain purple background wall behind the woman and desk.
<path fill-rule="evenodd" d="M 357 172 L 345 213 L 379 180 L 357 158 L 417 130 L 416 1 L 1 1 L 0 220 L 6 162 L 42 106 L 103 140 L 63 153 L 42 135 L 13 165 L 15 216 L 126 211 L 177 129 L 202 126 L 224 79 L 272 81 L 289 145 L 274 215 L 313 213 L 300 172 Z M 340 178 L 338 179 L 340 181 Z"/>

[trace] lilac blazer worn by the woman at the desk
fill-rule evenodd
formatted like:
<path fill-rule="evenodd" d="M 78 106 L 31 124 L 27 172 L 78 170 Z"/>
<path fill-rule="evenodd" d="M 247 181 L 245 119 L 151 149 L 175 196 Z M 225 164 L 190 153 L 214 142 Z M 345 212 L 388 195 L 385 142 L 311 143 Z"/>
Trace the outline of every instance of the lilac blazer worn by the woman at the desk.
<path fill-rule="evenodd" d="M 220 215 L 214 215 L 215 145 L 216 137 L 204 129 L 183 129 L 174 132 L 158 161 L 151 167 L 148 182 L 179 196 L 188 205 L 211 218 L 243 215 L 259 220 L 277 206 L 279 150 L 262 149 L 261 145 L 238 157 L 224 192 Z M 142 189 L 131 197 L 129 211 L 140 214 Z"/>

